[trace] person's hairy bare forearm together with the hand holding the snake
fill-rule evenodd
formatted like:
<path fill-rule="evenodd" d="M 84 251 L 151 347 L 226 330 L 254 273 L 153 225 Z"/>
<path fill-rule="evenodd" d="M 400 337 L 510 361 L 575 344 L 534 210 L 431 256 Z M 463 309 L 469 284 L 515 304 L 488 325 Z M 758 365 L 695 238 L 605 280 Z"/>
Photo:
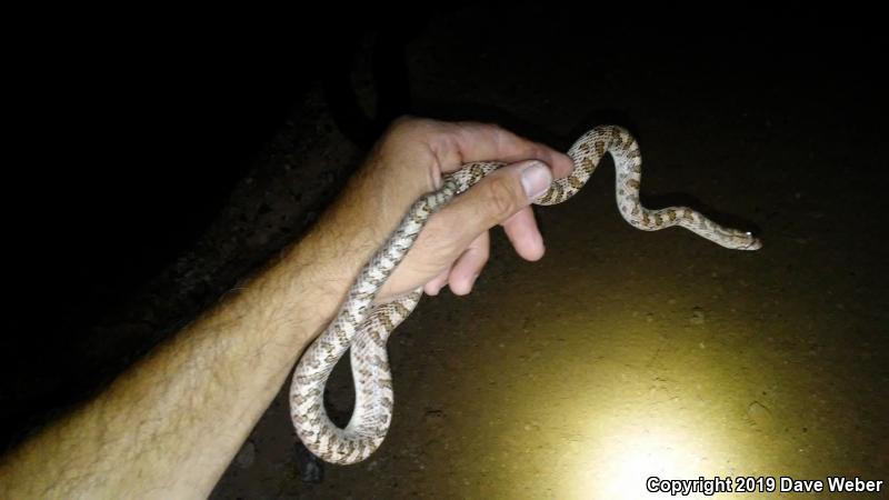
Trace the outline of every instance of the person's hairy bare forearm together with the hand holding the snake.
<path fill-rule="evenodd" d="M 400 121 L 299 243 L 0 459 L 0 497 L 207 497 L 410 203 L 463 162 L 531 158 L 558 177 L 570 171 L 563 154 L 499 128 Z M 529 167 L 496 172 L 436 214 L 382 293 L 423 284 L 434 294 L 446 283 L 468 293 L 488 258 L 487 230 L 501 222 L 522 257 L 540 258 L 521 183 Z"/>

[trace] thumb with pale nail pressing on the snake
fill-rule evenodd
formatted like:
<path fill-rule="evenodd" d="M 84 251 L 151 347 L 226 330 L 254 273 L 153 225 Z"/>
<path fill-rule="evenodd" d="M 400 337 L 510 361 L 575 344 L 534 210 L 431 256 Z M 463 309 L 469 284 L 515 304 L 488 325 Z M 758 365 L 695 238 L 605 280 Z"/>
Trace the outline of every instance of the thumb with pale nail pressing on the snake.
<path fill-rule="evenodd" d="M 552 182 L 549 167 L 528 160 L 502 167 L 457 197 L 441 211 L 441 220 L 452 221 L 461 248 L 481 232 L 502 223 L 543 194 Z"/>

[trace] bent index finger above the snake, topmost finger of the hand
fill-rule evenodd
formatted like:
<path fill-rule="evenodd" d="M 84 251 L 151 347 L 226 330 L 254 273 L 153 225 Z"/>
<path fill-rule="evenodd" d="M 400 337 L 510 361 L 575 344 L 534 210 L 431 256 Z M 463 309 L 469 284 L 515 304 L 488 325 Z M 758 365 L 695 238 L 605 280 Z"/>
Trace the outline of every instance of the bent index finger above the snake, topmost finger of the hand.
<path fill-rule="evenodd" d="M 429 146 L 441 161 L 443 172 L 453 172 L 473 161 L 515 163 L 532 159 L 547 163 L 555 178 L 568 177 L 575 169 L 575 163 L 567 154 L 496 124 L 446 123 L 444 133 L 430 139 Z"/>

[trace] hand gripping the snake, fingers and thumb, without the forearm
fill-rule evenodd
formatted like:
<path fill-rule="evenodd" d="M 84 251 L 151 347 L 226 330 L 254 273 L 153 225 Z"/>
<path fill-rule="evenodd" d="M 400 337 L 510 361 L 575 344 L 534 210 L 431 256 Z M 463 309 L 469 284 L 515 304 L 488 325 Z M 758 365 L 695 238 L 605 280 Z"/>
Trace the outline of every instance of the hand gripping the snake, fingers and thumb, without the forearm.
<path fill-rule="evenodd" d="M 437 190 L 442 174 L 472 161 L 501 161 L 498 169 L 433 214 L 378 294 L 378 301 L 420 286 L 438 294 L 447 284 L 467 294 L 488 261 L 489 230 L 501 224 L 526 260 L 538 260 L 545 246 L 531 201 L 552 178 L 571 173 L 568 156 L 520 138 L 502 128 L 472 122 L 402 119 L 374 147 L 368 176 L 381 176 L 381 221 L 391 224 L 417 198 Z M 380 192 L 381 191 L 381 192 Z M 392 213 L 397 208 L 401 212 Z"/>

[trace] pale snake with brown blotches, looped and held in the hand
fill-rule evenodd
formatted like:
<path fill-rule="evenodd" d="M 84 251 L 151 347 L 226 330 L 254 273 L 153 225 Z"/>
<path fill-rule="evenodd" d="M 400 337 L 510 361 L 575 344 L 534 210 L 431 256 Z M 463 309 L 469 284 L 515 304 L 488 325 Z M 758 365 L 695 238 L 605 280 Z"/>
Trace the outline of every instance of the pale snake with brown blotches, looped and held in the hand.
<path fill-rule="evenodd" d="M 617 204 L 630 226 L 657 231 L 670 227 L 733 250 L 757 250 L 761 241 L 749 231 L 720 226 L 688 207 L 649 210 L 639 200 L 642 159 L 639 144 L 619 126 L 598 126 L 583 133 L 568 151 L 573 171 L 555 179 L 535 204 L 561 203 L 583 187 L 605 153 L 613 160 Z M 440 189 L 413 202 L 399 226 L 376 250 L 352 283 L 334 319 L 300 357 L 290 387 L 290 417 L 297 436 L 316 457 L 333 464 L 352 464 L 370 457 L 383 442 L 392 421 L 394 394 L 386 342 L 413 311 L 422 288 L 373 303 L 377 292 L 417 240 L 429 218 L 503 162 L 471 162 L 444 174 Z M 324 387 L 333 367 L 350 351 L 354 407 L 344 428 L 324 409 Z"/>

